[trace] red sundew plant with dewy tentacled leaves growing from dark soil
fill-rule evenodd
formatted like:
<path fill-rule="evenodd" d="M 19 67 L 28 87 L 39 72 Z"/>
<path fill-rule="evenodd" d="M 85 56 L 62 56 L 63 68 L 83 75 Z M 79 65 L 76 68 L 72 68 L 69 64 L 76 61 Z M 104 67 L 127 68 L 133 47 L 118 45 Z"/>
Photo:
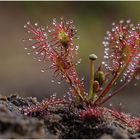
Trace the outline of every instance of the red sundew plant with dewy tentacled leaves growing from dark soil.
<path fill-rule="evenodd" d="M 106 117 L 110 113 L 133 129 L 140 129 L 139 118 L 102 107 L 103 103 L 118 94 L 132 80 L 140 78 L 140 24 L 121 20 L 112 23 L 112 26 L 104 38 L 104 60 L 97 71 L 94 71 L 94 63 L 98 57 L 95 54 L 89 55 L 90 89 L 87 91 L 83 79 L 76 71 L 81 58 L 78 56 L 79 46 L 75 44 L 78 35 L 74 22 L 65 21 L 64 18 L 58 21 L 53 19 L 51 26 L 43 27 L 28 21 L 24 28 L 30 34 L 28 40 L 32 43 L 25 48 L 27 54 L 32 53 L 38 61 L 46 62 L 46 68 L 41 71 L 51 69 L 55 78 L 69 84 L 69 92 L 68 98 L 52 96 L 38 104 L 23 107 L 22 112 L 34 116 L 37 112 L 49 112 L 51 107 L 74 102 L 83 106 L 77 112 L 78 117 Z"/>

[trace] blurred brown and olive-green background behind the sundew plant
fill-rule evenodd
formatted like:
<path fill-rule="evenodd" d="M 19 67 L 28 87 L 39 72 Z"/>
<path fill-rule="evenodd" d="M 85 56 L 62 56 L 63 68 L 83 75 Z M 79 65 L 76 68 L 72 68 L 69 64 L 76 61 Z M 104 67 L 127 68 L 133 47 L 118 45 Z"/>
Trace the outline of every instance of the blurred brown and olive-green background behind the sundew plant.
<path fill-rule="evenodd" d="M 95 53 L 99 59 L 96 68 L 103 59 L 102 41 L 112 22 L 131 19 L 140 21 L 140 2 L 0 2 L 0 94 L 20 94 L 37 96 L 38 99 L 57 93 L 63 96 L 68 85 L 51 83 L 52 72 L 41 73 L 47 64 L 39 63 L 28 56 L 23 43 L 27 38 L 23 26 L 30 20 L 41 25 L 50 25 L 53 18 L 60 16 L 72 19 L 78 28 L 80 40 L 79 55 L 81 64 L 77 67 L 79 75 L 85 77 L 88 89 L 88 55 Z M 122 109 L 140 115 L 140 82 L 134 81 L 118 95 L 106 103 L 112 108 Z M 134 86 L 135 85 L 135 86 Z"/>

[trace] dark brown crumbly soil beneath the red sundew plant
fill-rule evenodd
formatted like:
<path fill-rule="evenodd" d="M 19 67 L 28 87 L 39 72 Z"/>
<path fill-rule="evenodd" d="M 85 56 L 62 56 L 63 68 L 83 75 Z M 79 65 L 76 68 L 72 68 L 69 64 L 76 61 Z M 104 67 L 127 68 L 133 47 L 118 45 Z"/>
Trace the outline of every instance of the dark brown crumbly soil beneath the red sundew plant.
<path fill-rule="evenodd" d="M 25 116 L 20 108 L 36 104 L 32 97 L 0 96 L 0 138 L 140 138 L 140 133 L 109 118 L 81 119 L 74 103 Z"/>

